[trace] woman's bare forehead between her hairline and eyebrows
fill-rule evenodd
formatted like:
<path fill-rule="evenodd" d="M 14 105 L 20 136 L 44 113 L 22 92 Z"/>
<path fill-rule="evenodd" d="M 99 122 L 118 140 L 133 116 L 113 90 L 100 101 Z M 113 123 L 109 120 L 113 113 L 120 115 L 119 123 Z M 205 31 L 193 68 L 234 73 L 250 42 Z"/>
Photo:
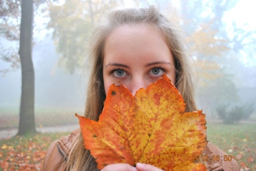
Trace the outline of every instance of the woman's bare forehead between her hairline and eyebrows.
<path fill-rule="evenodd" d="M 105 58 L 134 55 L 161 56 L 166 52 L 169 54 L 170 49 L 156 27 L 149 24 L 126 24 L 110 33 L 103 54 Z"/>

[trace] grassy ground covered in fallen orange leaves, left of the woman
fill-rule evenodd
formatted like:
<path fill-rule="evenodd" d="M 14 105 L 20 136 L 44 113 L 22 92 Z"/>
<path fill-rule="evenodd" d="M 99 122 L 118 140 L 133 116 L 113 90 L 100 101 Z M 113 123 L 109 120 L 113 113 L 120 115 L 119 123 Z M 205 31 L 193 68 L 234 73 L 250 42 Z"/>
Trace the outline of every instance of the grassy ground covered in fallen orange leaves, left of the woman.
<path fill-rule="evenodd" d="M 0 170 L 40 170 L 51 142 L 68 133 L 40 133 L 0 139 Z"/>

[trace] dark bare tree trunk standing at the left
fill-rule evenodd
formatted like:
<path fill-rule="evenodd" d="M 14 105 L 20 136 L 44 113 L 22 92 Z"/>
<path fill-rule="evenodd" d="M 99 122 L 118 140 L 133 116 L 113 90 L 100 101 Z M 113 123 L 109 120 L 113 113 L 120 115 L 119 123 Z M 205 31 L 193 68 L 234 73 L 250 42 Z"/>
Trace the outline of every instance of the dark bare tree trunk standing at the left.
<path fill-rule="evenodd" d="M 22 83 L 18 135 L 36 133 L 34 113 L 35 75 L 32 62 L 33 18 L 33 0 L 21 1 L 19 55 Z"/>

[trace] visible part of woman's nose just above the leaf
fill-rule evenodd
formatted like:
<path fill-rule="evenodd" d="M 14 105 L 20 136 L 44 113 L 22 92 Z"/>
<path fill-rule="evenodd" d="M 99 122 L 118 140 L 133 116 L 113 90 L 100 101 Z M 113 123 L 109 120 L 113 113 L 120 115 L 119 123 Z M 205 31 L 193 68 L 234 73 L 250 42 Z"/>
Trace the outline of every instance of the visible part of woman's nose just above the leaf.
<path fill-rule="evenodd" d="M 139 90 L 140 88 L 146 88 L 147 86 L 148 85 L 146 79 L 143 78 L 142 75 L 136 75 L 133 76 L 131 79 L 129 90 L 134 96 L 137 90 Z"/>

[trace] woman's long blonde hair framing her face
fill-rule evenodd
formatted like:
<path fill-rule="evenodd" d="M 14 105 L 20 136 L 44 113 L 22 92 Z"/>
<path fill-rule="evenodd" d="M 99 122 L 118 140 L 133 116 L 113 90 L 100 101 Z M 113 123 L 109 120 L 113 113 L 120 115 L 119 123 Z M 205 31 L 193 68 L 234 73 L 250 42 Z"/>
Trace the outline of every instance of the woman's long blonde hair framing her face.
<path fill-rule="evenodd" d="M 127 8 L 116 10 L 108 15 L 105 22 L 101 22 L 91 37 L 89 57 L 92 58 L 92 72 L 87 89 L 86 107 L 84 116 L 95 121 L 103 109 L 106 93 L 103 86 L 103 50 L 106 38 L 113 30 L 124 24 L 150 24 L 162 32 L 167 45 L 174 56 L 176 69 L 175 86 L 186 102 L 186 112 L 196 110 L 194 101 L 193 77 L 189 59 L 187 57 L 184 39 L 180 30 L 172 22 L 159 13 L 155 6 L 148 8 Z M 97 164 L 90 156 L 90 152 L 83 146 L 80 134 L 73 144 L 67 160 L 67 170 L 98 170 Z"/>

